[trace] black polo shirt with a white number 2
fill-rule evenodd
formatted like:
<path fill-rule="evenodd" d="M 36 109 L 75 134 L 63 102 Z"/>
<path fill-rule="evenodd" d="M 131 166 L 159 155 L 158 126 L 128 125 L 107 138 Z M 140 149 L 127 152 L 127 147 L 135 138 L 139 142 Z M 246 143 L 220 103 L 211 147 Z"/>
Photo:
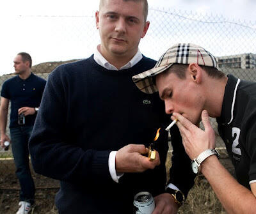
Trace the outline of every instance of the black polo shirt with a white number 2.
<path fill-rule="evenodd" d="M 250 183 L 256 181 L 256 82 L 228 75 L 217 122 L 237 181 L 250 188 Z"/>

